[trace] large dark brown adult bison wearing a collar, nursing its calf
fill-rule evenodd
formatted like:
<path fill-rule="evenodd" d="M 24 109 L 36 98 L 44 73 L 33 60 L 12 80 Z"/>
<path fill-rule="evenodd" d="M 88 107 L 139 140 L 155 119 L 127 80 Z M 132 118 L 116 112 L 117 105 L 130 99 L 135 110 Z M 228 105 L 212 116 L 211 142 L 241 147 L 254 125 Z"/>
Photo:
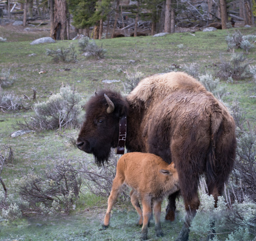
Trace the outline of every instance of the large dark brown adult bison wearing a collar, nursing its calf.
<path fill-rule="evenodd" d="M 122 153 L 124 143 L 128 152 L 154 153 L 175 163 L 187 211 L 177 240 L 188 240 L 190 221 L 200 204 L 199 175 L 205 174 L 208 192 L 217 202 L 233 167 L 235 123 L 227 108 L 181 72 L 145 78 L 127 97 L 102 90 L 86 105 L 77 147 L 93 153 L 101 166 L 110 148 Z M 169 196 L 166 219 L 174 220 L 178 194 Z"/>

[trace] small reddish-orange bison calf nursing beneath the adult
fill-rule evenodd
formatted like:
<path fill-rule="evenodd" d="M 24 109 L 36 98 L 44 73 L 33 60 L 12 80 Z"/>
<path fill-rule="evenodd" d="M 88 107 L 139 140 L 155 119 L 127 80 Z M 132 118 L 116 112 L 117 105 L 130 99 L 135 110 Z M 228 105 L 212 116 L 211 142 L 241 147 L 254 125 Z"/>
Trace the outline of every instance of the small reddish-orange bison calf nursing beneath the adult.
<path fill-rule="evenodd" d="M 122 185 L 126 184 L 132 188 L 131 203 L 140 216 L 138 224 L 143 224 L 141 239 L 147 239 L 148 222 L 152 213 L 151 203 L 155 216 L 156 235 L 163 236 L 160 224 L 161 202 L 164 196 L 179 190 L 178 181 L 178 173 L 174 163 L 168 165 L 161 157 L 154 154 L 126 153 L 117 163 L 103 228 L 108 227 L 113 204 L 118 198 Z M 143 212 L 139 205 L 139 199 L 143 206 Z"/>

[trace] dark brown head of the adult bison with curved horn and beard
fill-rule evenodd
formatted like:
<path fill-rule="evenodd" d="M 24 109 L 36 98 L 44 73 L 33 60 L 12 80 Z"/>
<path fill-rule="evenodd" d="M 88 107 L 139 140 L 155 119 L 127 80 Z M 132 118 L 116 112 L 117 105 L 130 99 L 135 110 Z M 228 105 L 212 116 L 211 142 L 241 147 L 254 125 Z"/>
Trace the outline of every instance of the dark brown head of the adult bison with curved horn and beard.
<path fill-rule="evenodd" d="M 85 111 L 77 147 L 93 153 L 95 162 L 102 166 L 108 161 L 111 147 L 118 144 L 119 119 L 127 115 L 128 103 L 119 93 L 101 90 L 90 98 Z"/>

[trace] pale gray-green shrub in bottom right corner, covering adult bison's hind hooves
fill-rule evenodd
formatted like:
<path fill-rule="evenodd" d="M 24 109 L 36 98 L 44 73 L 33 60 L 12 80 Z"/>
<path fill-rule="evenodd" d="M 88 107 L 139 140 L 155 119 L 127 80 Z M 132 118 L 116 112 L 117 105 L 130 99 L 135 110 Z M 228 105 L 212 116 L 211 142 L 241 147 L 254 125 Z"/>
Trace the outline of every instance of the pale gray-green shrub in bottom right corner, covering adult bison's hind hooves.
<path fill-rule="evenodd" d="M 195 232 L 200 238 L 206 238 L 207 233 L 211 233 L 212 230 L 210 220 L 215 220 L 213 240 L 253 240 L 256 235 L 255 202 L 246 199 L 243 202 L 235 201 L 230 205 L 223 196 L 220 196 L 217 205 L 215 208 L 212 195 L 201 194 L 200 206 L 192 221 L 190 231 Z"/>

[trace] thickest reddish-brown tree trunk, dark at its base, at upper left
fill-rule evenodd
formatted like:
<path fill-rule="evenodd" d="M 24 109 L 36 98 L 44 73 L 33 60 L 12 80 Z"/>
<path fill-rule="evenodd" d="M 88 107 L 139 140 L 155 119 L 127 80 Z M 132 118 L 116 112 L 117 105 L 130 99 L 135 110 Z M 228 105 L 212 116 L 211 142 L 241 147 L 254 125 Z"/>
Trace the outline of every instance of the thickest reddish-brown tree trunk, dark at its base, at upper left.
<path fill-rule="evenodd" d="M 55 0 L 54 5 L 54 39 L 67 39 L 67 1 Z"/>

